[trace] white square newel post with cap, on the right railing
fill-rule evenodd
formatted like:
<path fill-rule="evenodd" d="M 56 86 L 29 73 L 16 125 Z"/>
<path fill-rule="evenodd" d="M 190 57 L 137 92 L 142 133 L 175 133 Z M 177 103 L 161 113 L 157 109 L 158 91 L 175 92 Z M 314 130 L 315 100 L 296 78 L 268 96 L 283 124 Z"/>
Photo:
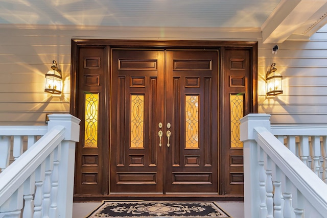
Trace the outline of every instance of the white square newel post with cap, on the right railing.
<path fill-rule="evenodd" d="M 240 139 L 243 141 L 244 156 L 244 217 L 260 216 L 258 145 L 254 128 L 265 127 L 270 130 L 270 115 L 251 113 L 240 119 Z"/>

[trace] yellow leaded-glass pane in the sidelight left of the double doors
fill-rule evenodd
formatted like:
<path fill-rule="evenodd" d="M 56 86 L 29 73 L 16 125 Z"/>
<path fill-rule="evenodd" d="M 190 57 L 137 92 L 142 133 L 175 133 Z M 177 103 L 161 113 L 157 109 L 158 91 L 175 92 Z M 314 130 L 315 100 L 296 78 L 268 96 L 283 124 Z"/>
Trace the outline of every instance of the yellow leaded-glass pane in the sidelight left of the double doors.
<path fill-rule="evenodd" d="M 98 148 L 99 93 L 85 94 L 84 147 Z"/>

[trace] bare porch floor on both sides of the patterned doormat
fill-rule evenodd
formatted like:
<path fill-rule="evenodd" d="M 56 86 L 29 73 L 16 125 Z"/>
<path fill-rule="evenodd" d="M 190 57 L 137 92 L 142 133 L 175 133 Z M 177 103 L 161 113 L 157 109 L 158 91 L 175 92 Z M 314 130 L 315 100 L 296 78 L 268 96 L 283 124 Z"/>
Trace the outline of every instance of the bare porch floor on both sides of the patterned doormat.
<path fill-rule="evenodd" d="M 83 218 L 101 202 L 77 202 L 73 204 L 73 218 Z M 218 205 L 233 218 L 244 218 L 244 202 L 219 201 Z"/>

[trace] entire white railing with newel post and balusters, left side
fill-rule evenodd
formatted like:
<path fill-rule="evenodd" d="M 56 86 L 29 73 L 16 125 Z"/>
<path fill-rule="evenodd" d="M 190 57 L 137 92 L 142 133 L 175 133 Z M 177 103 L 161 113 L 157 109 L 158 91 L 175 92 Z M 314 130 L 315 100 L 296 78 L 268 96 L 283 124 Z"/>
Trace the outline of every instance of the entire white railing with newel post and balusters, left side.
<path fill-rule="evenodd" d="M 0 127 L 0 217 L 72 217 L 80 120 L 49 118 L 48 127 Z M 15 160 L 9 165 L 10 147 Z"/>

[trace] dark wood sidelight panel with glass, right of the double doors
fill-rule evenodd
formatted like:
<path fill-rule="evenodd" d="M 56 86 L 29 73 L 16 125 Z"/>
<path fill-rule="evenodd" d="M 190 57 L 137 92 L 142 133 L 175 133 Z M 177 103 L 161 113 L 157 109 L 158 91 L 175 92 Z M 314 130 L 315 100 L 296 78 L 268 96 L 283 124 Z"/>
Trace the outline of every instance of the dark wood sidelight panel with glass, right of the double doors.
<path fill-rule="evenodd" d="M 221 129 L 221 191 L 224 195 L 243 193 L 243 143 L 239 140 L 239 119 L 252 112 L 252 66 L 249 49 L 226 48 L 224 56 Z"/>

